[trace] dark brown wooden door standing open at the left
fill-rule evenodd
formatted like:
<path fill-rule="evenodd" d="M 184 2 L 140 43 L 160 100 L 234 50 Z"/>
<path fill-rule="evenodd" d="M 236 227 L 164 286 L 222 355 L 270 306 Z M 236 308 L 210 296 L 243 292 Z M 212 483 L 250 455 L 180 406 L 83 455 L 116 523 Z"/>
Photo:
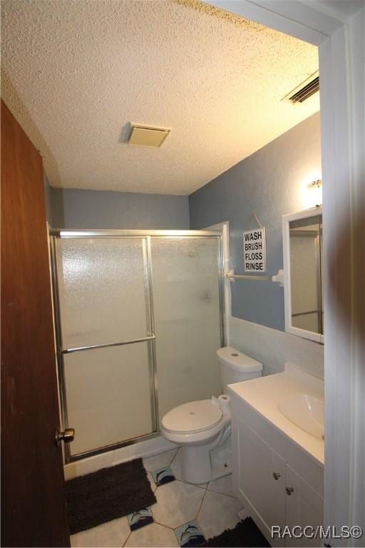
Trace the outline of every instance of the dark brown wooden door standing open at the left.
<path fill-rule="evenodd" d="M 41 156 L 1 101 L 1 545 L 69 546 Z"/>

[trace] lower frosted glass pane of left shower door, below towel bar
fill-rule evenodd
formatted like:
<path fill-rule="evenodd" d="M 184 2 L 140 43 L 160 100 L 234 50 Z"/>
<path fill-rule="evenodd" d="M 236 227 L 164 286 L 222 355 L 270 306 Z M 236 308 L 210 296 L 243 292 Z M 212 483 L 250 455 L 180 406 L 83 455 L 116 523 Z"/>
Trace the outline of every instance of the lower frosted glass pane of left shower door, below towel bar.
<path fill-rule="evenodd" d="M 98 348 L 64 356 L 71 455 L 153 432 L 148 345 Z"/>

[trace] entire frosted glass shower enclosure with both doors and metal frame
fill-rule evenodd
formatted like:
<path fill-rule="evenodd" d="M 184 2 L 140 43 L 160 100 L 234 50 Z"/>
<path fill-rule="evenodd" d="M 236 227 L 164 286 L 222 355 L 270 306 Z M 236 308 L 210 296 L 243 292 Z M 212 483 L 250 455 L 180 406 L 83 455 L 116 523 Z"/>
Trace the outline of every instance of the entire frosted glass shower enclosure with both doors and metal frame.
<path fill-rule="evenodd" d="M 173 407 L 220 394 L 221 234 L 53 230 L 66 462 L 158 435 Z"/>

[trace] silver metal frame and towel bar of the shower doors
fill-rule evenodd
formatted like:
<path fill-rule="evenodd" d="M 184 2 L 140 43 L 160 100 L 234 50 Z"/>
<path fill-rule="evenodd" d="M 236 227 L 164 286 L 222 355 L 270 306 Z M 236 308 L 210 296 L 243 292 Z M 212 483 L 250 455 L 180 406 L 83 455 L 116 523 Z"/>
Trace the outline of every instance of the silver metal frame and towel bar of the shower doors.
<path fill-rule="evenodd" d="M 222 232 L 219 230 L 66 230 L 50 229 L 50 255 L 51 255 L 51 273 L 52 273 L 52 293 L 53 293 L 53 317 L 56 333 L 56 361 L 58 370 L 58 400 L 61 410 L 61 422 L 63 430 L 68 428 L 68 412 L 66 400 L 66 382 L 64 375 L 63 356 L 71 352 L 92 351 L 96 348 L 113 347 L 121 345 L 130 345 L 138 342 L 147 342 L 148 344 L 148 369 L 150 374 L 150 400 L 151 400 L 151 418 L 153 432 L 145 435 L 130 438 L 123 442 L 116 442 L 110 445 L 104 445 L 93 450 L 71 455 L 68 444 L 64 444 L 65 464 L 82 460 L 93 455 L 120 449 L 135 443 L 150 440 L 160 436 L 159 417 L 158 417 L 158 377 L 156 360 L 156 335 L 155 335 L 155 315 L 153 310 L 153 268 L 151 258 L 151 238 L 182 238 L 182 239 L 201 239 L 215 238 L 217 240 L 217 273 L 218 273 L 218 293 L 220 305 L 220 345 L 225 345 L 225 300 L 223 295 L 223 256 L 222 256 Z M 143 267 L 145 269 L 145 305 L 147 311 L 148 325 L 150 335 L 145 338 L 125 340 L 122 342 L 112 342 L 101 345 L 88 345 L 76 348 L 63 348 L 61 335 L 61 308 L 59 303 L 58 291 L 58 272 L 56 257 L 56 240 L 60 239 L 81 239 L 81 238 L 140 238 L 145 241 L 143 244 Z M 72 425 L 71 425 L 72 426 Z M 76 432 L 77 435 L 77 432 Z"/>

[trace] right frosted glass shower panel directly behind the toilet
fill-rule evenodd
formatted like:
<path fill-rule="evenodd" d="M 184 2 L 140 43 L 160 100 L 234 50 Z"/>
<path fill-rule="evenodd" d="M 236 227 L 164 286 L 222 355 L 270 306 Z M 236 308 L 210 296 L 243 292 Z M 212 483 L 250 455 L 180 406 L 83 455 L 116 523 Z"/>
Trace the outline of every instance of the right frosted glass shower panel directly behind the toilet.
<path fill-rule="evenodd" d="M 212 238 L 152 238 L 158 409 L 221 393 L 218 245 Z"/>

